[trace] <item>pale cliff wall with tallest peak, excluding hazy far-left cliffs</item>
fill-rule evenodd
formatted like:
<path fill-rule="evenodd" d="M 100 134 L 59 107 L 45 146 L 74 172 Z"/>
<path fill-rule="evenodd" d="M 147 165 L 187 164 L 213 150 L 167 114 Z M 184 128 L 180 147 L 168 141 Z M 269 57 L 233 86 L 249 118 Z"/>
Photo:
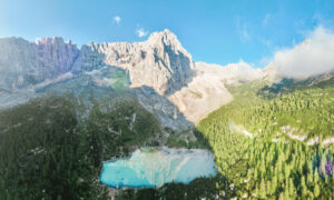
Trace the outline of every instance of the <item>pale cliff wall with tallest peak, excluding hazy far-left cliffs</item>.
<path fill-rule="evenodd" d="M 169 30 L 153 33 L 147 41 L 95 43 L 81 48 L 76 70 L 115 66 L 127 70 L 131 87 L 147 86 L 170 94 L 193 78 L 194 61 Z"/>

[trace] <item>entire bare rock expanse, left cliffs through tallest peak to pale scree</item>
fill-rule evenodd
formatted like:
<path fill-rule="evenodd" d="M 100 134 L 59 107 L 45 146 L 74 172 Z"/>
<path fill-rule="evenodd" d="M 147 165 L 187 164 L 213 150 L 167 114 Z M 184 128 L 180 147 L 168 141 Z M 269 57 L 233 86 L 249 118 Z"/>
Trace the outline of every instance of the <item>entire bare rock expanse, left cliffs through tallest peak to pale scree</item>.
<path fill-rule="evenodd" d="M 155 32 L 143 42 L 90 42 L 80 50 L 61 38 L 37 42 L 0 39 L 0 102 L 14 99 L 0 108 L 22 103 L 47 86 L 61 93 L 129 82 L 128 90 L 163 124 L 184 129 L 232 99 L 225 82 L 258 77 L 261 70 L 246 63 L 195 63 L 169 30 Z"/>

